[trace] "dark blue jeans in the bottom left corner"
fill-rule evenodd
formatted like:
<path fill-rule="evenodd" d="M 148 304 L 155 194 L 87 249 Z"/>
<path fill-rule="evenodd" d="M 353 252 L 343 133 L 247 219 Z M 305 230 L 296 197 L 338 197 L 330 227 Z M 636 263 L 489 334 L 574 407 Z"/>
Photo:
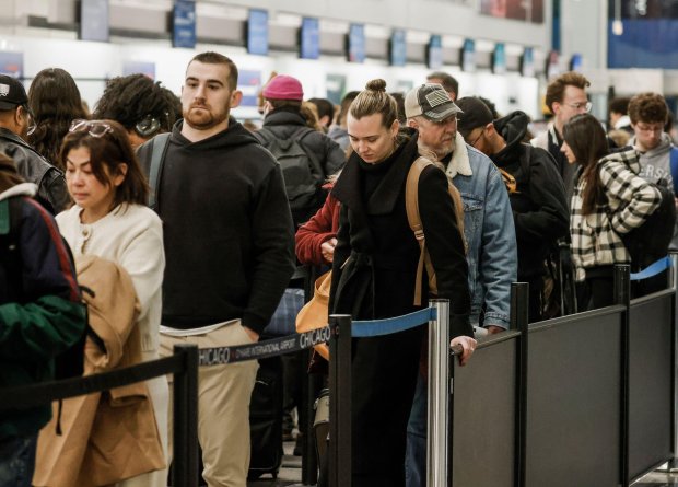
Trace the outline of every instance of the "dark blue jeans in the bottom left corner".
<path fill-rule="evenodd" d="M 31 487 L 37 433 L 0 440 L 0 487 Z"/>

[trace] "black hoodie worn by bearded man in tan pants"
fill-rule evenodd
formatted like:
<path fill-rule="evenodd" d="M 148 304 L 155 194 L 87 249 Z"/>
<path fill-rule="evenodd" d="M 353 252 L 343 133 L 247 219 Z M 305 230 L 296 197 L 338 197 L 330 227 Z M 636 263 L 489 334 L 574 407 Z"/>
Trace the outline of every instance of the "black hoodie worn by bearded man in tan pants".
<path fill-rule="evenodd" d="M 261 332 L 294 271 L 294 234 L 280 166 L 231 118 L 191 142 L 175 124 L 156 211 L 164 223 L 163 324 L 242 318 Z M 149 174 L 152 144 L 139 148 Z"/>

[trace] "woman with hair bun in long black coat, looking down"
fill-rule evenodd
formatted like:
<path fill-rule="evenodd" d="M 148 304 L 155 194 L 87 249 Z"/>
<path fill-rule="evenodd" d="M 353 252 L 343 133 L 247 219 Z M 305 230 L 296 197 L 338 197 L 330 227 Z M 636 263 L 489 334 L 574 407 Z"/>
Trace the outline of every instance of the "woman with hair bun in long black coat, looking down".
<path fill-rule="evenodd" d="M 443 104 L 441 109 L 445 108 Z M 420 154 L 417 135 L 400 131 L 397 116 L 396 101 L 381 79 L 370 81 L 349 109 L 353 153 L 331 192 L 341 204 L 329 302 L 332 314 L 376 320 L 426 305 L 426 279 L 422 279 L 422 305 L 413 304 L 420 247 L 405 206 L 407 175 Z M 419 212 L 436 274 L 437 297 L 451 300 L 451 334 L 453 344 L 464 347 L 464 363 L 476 341 L 470 338 L 463 232 L 447 185 L 443 171 L 426 166 L 419 179 Z M 424 333 L 419 326 L 353 339 L 354 487 L 405 485 L 406 428 Z"/>

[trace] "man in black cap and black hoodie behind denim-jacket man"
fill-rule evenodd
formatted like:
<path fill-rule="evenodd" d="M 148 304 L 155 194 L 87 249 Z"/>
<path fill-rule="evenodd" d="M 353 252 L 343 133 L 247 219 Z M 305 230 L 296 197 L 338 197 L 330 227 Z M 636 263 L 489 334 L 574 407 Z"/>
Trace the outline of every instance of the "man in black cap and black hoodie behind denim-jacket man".
<path fill-rule="evenodd" d="M 494 162 L 506 184 L 518 246 L 518 280 L 529 283 L 529 321 L 540 321 L 543 263 L 556 241 L 569 231 L 563 181 L 546 150 L 522 142 L 529 121 L 526 114 L 513 112 L 493 120 L 477 97 L 460 98 L 457 105 L 464 111 L 459 134 Z"/>

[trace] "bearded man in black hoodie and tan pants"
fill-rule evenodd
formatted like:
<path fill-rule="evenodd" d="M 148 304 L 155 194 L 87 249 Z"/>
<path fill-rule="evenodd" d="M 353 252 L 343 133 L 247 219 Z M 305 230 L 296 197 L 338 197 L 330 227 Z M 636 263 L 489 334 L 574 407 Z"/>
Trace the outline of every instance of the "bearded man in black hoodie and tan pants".
<path fill-rule="evenodd" d="M 256 341 L 294 271 L 292 218 L 280 166 L 230 117 L 237 68 L 217 53 L 194 57 L 155 186 L 164 223 L 161 348 Z M 153 143 L 139 149 L 150 172 Z M 198 439 L 210 486 L 244 487 L 256 361 L 201 367 Z"/>

